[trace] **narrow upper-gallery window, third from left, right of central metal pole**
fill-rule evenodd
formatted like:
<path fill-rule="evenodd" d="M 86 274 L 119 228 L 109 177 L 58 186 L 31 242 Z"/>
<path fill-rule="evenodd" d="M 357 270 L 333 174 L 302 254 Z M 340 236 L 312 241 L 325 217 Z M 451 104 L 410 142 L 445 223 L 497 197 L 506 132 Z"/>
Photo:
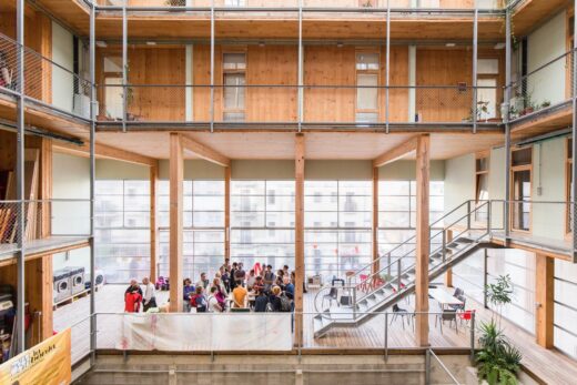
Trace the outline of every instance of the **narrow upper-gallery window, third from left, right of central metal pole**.
<path fill-rule="evenodd" d="M 356 122 L 378 119 L 378 53 L 356 54 Z"/>

